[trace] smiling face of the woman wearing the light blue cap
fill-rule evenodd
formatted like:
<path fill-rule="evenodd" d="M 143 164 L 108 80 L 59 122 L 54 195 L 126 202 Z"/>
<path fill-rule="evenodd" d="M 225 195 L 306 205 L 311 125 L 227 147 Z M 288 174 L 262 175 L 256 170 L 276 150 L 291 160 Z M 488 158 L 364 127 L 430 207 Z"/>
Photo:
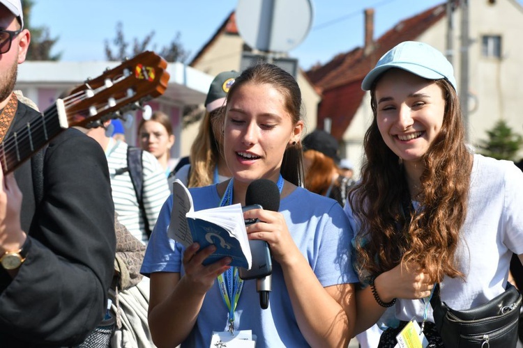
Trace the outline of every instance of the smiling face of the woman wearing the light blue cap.
<path fill-rule="evenodd" d="M 444 93 L 434 81 L 399 69 L 379 79 L 374 95 L 377 125 L 384 142 L 404 162 L 418 162 L 439 134 Z"/>

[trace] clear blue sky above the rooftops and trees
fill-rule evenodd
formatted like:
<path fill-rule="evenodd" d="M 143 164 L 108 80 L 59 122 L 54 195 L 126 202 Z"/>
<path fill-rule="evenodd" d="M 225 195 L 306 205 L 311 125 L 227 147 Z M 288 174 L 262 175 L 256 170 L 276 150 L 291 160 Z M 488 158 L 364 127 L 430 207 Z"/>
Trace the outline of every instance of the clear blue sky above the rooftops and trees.
<path fill-rule="evenodd" d="M 248 1 L 248 0 L 241 0 Z M 288 1 L 288 0 L 283 0 Z M 310 0 L 312 26 L 289 52 L 307 70 L 336 54 L 363 45 L 363 10 L 374 8 L 374 38 L 401 19 L 444 0 Z M 480 1 L 480 0 L 474 0 Z M 520 0 L 522 2 L 523 0 Z M 180 41 L 194 56 L 231 13 L 238 0 L 34 0 L 32 26 L 47 26 L 59 37 L 54 53 L 63 61 L 105 60 L 104 42 L 112 40 L 122 22 L 128 41 L 155 31 L 153 43 Z M 152 48 L 152 47 L 151 47 Z"/>

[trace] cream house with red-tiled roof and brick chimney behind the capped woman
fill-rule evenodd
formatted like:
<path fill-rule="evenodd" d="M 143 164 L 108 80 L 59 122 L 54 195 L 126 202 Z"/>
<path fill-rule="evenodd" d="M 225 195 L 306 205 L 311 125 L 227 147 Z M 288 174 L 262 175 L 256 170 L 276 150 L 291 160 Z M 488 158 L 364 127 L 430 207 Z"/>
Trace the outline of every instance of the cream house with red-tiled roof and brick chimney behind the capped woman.
<path fill-rule="evenodd" d="M 330 62 L 308 71 L 310 80 L 321 89 L 318 125 L 331 119 L 332 134 L 341 144 L 344 157 L 351 159 L 359 173 L 363 163 L 363 137 L 372 120 L 370 95 L 361 90 L 361 81 L 379 58 L 406 40 L 427 42 L 447 54 L 453 63 L 458 94 L 468 94 L 467 138 L 473 147 L 487 140 L 487 129 L 506 120 L 514 132 L 523 133 L 523 89 L 519 78 L 523 62 L 523 8 L 515 0 L 468 1 L 468 79 L 462 68 L 462 8 L 452 1 L 449 31 L 447 3 L 442 2 L 414 17 L 402 20 L 373 40 L 373 10 L 365 11 L 365 44 Z M 449 40 L 447 38 L 452 38 Z M 448 47 L 452 47 L 449 50 Z M 449 55 L 451 54 L 451 55 Z M 468 86 L 463 81 L 468 81 Z M 520 153 L 523 156 L 523 152 Z"/>

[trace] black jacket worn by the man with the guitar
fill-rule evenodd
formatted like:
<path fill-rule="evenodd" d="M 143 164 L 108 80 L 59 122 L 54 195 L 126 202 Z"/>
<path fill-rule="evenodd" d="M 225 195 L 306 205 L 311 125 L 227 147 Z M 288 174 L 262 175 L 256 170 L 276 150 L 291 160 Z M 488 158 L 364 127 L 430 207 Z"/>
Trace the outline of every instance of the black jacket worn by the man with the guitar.
<path fill-rule="evenodd" d="M 39 113 L 18 103 L 19 129 Z M 114 205 L 100 145 L 67 129 L 45 150 L 44 191 L 35 206 L 31 161 L 15 171 L 22 229 L 32 239 L 15 278 L 0 267 L 0 346 L 82 342 L 103 319 L 114 273 Z"/>

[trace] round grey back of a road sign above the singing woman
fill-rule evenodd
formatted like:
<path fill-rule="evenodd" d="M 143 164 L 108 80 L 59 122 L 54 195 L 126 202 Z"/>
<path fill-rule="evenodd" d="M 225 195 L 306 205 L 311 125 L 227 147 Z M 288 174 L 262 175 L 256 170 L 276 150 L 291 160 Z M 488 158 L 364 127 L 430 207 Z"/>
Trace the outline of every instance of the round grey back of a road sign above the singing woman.
<path fill-rule="evenodd" d="M 288 52 L 312 25 L 310 0 L 238 0 L 236 25 L 243 40 L 263 52 Z"/>

